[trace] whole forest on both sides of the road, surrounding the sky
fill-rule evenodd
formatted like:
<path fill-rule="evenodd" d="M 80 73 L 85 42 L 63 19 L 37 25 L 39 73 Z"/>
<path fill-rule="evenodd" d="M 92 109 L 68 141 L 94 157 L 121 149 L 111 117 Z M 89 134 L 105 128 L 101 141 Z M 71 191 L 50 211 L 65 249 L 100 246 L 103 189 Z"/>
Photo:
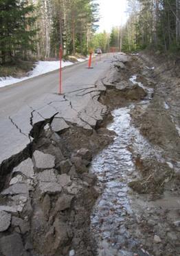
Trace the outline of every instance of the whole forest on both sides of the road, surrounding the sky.
<path fill-rule="evenodd" d="M 95 33 L 98 1 L 1 0 L 0 61 L 87 55 L 89 49 L 180 50 L 180 0 L 128 0 L 124 26 Z"/>

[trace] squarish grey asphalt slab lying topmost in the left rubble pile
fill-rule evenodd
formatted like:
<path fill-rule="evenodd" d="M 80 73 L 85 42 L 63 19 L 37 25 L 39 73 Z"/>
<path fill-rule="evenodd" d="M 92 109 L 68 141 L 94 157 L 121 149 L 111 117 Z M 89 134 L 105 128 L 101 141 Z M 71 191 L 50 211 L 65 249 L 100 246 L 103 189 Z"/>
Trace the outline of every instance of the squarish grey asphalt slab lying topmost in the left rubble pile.
<path fill-rule="evenodd" d="M 36 150 L 33 154 L 35 166 L 39 169 L 50 169 L 55 166 L 55 157 Z"/>

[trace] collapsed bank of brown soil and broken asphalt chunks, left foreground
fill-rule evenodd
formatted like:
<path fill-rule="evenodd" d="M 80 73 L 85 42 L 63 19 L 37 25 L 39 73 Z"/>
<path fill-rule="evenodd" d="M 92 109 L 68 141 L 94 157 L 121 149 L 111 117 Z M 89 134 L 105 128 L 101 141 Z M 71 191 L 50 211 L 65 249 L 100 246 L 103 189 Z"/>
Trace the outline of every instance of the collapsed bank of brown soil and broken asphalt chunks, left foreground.
<path fill-rule="evenodd" d="M 94 255 L 89 224 L 98 190 L 87 166 L 113 132 L 52 117 L 30 135 L 32 143 L 1 165 L 1 253 Z"/>

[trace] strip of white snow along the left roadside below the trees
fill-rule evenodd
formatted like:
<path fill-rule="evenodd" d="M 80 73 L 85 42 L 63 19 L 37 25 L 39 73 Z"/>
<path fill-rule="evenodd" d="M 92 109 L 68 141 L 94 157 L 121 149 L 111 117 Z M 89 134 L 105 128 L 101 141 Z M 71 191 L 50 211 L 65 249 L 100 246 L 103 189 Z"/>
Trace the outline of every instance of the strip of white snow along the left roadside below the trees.
<path fill-rule="evenodd" d="M 78 59 L 78 62 L 85 61 L 86 59 Z M 73 65 L 71 61 L 62 61 L 62 67 Z M 10 86 L 14 83 L 19 83 L 21 81 L 30 79 L 32 77 L 37 77 L 38 75 L 43 75 L 47 72 L 58 70 L 60 66 L 59 61 L 38 61 L 34 70 L 27 73 L 27 77 L 15 78 L 15 77 L 0 77 L 0 88 L 4 86 Z"/>

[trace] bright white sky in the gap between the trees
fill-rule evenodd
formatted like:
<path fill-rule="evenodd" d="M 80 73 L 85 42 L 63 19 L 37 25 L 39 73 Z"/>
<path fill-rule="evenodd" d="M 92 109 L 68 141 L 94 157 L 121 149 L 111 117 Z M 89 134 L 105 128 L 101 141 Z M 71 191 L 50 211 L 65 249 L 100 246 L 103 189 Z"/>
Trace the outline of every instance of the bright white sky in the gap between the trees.
<path fill-rule="evenodd" d="M 97 32 L 110 32 L 113 26 L 120 26 L 126 22 L 126 0 L 98 0 L 100 4 L 100 26 Z"/>

